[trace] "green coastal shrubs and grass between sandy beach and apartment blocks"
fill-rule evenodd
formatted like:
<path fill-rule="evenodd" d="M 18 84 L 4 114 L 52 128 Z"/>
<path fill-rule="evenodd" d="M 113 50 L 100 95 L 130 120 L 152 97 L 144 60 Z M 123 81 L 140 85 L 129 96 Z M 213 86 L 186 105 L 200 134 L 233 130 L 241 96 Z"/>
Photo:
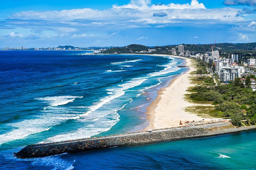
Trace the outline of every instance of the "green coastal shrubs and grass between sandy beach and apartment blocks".
<path fill-rule="evenodd" d="M 203 62 L 196 63 L 196 74 L 206 70 Z M 194 72 L 195 74 L 195 72 Z M 191 80 L 196 86 L 188 89 L 187 99 L 194 103 L 212 104 L 212 106 L 194 106 L 187 111 L 207 117 L 230 118 L 235 126 L 254 125 L 256 122 L 256 92 L 250 88 L 251 77 L 245 82 L 235 78 L 226 84 L 215 85 L 213 78 L 193 76 Z"/>

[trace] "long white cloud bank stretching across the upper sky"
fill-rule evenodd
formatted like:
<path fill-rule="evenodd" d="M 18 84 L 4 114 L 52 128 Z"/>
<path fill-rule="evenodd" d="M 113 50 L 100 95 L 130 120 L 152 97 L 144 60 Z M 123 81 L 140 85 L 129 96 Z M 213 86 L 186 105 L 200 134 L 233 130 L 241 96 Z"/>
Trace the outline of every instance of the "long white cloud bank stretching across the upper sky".
<path fill-rule="evenodd" d="M 131 8 L 128 8 L 128 6 Z M 180 22 L 177 20 L 174 21 L 174 19 L 219 19 L 226 22 L 244 20 L 243 17 L 236 16 L 239 11 L 238 9 L 206 9 L 204 4 L 199 4 L 197 0 L 192 0 L 190 4 L 171 3 L 168 5 L 152 5 L 150 0 L 132 0 L 130 4 L 114 7 L 115 8 L 103 11 L 88 8 L 62 11 L 23 11 L 13 13 L 8 18 L 11 19 L 11 21 L 9 20 L 8 22 L 13 22 L 17 25 L 26 24 L 28 22 L 42 25 L 44 22 L 50 21 L 50 23 L 47 24 L 54 25 L 58 24 L 56 22 L 59 21 L 63 27 L 67 27 L 68 25 L 81 26 L 82 24 L 91 27 L 113 25 L 124 25 L 126 27 L 131 24 L 126 21 L 163 24 Z M 20 19 L 20 21 L 15 21 L 17 19 Z M 43 22 L 39 23 L 38 20 L 43 20 Z M 63 32 L 73 31 L 76 31 L 75 28 L 63 30 Z"/>

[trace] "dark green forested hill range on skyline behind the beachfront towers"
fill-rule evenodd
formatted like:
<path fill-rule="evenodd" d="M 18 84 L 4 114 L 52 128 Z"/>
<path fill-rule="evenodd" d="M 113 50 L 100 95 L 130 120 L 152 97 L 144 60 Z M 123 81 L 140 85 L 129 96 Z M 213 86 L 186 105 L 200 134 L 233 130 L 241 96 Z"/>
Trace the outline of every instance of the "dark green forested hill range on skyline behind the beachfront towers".
<path fill-rule="evenodd" d="M 211 44 L 182 44 L 184 45 L 184 51 L 197 52 L 204 54 L 204 52 L 212 51 Z M 233 43 L 216 43 L 214 50 L 221 50 L 222 53 L 242 53 L 255 54 L 256 50 L 253 50 L 256 47 L 256 42 L 253 43 L 244 43 L 244 44 L 233 44 Z M 140 51 L 148 51 L 148 49 L 155 49 L 151 54 L 171 54 L 172 48 L 175 48 L 178 51 L 178 45 L 168 45 L 168 46 L 156 46 L 149 48 L 147 46 L 131 44 L 125 47 L 114 47 L 106 51 L 103 51 L 104 54 L 136 54 Z M 142 52 L 143 53 L 143 52 Z"/>

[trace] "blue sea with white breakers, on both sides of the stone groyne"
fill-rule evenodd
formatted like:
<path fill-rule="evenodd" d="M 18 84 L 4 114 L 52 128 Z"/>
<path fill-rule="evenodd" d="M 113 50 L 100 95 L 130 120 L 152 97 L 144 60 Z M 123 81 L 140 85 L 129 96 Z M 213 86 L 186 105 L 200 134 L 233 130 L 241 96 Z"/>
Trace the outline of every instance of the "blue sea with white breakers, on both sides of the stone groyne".
<path fill-rule="evenodd" d="M 13 157 L 28 144 L 139 131 L 149 98 L 187 71 L 171 56 L 79 53 L 0 51 L 0 169 L 255 169 L 256 131 Z"/>

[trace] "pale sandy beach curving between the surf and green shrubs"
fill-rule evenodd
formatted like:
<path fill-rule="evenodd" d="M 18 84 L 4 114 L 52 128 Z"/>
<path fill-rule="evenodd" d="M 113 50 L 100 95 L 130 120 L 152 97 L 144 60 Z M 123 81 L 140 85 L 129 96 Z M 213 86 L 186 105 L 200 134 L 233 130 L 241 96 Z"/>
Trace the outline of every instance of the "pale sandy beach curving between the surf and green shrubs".
<path fill-rule="evenodd" d="M 178 127 L 181 126 L 180 121 L 184 125 L 184 122 L 186 121 L 192 122 L 202 119 L 205 121 L 211 120 L 198 117 L 195 114 L 190 114 L 183 110 L 184 107 L 196 105 L 183 99 L 184 94 L 188 93 L 186 92 L 187 88 L 192 86 L 188 79 L 188 76 L 190 76 L 189 73 L 196 70 L 191 66 L 191 59 L 185 59 L 186 65 L 189 66 L 189 70 L 177 78 L 174 78 L 168 87 L 161 88 L 157 92 L 158 95 L 156 100 L 153 100 L 152 103 L 146 108 L 149 126 L 144 130 Z"/>

